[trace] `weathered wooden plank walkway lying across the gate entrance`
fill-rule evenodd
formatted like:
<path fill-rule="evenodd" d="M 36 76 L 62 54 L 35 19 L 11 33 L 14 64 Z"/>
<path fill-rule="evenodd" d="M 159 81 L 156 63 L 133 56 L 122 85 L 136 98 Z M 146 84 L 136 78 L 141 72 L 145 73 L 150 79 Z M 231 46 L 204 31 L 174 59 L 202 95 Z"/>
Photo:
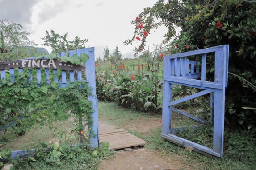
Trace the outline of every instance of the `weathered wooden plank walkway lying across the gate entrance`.
<path fill-rule="evenodd" d="M 113 150 L 145 145 L 147 143 L 124 129 L 104 130 L 100 131 L 99 134 L 100 141 L 109 142 L 109 147 Z"/>

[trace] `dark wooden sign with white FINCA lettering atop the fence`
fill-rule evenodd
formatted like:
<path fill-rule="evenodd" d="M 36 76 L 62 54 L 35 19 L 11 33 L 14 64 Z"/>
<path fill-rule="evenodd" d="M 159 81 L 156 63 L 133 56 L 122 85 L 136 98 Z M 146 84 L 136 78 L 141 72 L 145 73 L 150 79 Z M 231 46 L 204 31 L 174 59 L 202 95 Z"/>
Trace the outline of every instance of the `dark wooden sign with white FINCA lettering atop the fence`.
<path fill-rule="evenodd" d="M 57 59 L 25 59 L 15 61 L 0 62 L 0 70 L 9 68 L 44 68 L 44 69 L 62 69 L 62 70 L 79 70 L 84 69 L 82 65 L 73 65 L 71 62 L 62 62 Z"/>

